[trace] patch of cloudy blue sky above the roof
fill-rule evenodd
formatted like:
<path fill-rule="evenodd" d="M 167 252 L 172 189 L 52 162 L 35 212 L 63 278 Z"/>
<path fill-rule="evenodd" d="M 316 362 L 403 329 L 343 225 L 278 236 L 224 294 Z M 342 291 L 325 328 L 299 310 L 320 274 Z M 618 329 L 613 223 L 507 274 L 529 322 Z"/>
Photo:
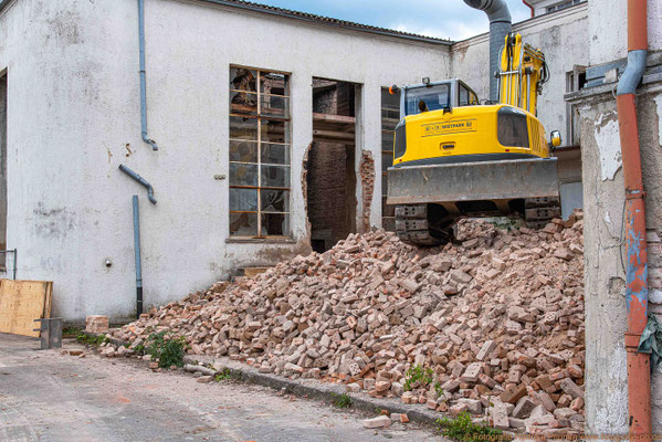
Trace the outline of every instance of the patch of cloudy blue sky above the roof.
<path fill-rule="evenodd" d="M 255 3 L 333 17 L 361 24 L 427 36 L 464 40 L 486 32 L 487 15 L 462 0 L 252 0 Z M 513 22 L 526 20 L 530 10 L 521 0 L 506 0 Z"/>

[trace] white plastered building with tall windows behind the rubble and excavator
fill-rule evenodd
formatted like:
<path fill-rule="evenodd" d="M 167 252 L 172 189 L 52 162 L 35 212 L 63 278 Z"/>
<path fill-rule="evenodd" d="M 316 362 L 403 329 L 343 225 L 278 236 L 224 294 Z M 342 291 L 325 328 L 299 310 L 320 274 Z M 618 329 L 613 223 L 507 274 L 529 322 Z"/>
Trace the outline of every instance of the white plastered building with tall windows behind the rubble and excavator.
<path fill-rule="evenodd" d="M 135 315 L 134 194 L 148 308 L 381 225 L 383 87 L 458 76 L 486 96 L 485 35 L 453 44 L 238 0 L 145 3 L 158 150 L 141 137 L 138 0 L 0 1 L 0 229 L 18 277 L 53 281 L 53 314 L 69 320 Z M 548 52 L 548 130 L 570 134 L 566 74 L 586 45 L 560 46 L 588 40 L 586 9 L 515 25 Z M 335 176 L 315 167 L 334 159 Z"/>

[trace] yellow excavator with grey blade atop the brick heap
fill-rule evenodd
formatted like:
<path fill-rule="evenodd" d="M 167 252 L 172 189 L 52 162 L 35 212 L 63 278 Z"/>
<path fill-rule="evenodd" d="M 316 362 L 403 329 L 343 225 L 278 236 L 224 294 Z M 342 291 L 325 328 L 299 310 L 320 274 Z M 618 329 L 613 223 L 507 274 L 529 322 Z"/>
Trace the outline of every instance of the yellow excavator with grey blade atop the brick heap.
<path fill-rule="evenodd" d="M 460 80 L 391 87 L 400 93 L 387 203 L 410 244 L 452 239 L 463 217 L 518 215 L 540 227 L 560 214 L 554 147 L 536 117 L 548 80 L 544 54 L 508 33 L 495 72 L 496 102 L 480 104 Z"/>

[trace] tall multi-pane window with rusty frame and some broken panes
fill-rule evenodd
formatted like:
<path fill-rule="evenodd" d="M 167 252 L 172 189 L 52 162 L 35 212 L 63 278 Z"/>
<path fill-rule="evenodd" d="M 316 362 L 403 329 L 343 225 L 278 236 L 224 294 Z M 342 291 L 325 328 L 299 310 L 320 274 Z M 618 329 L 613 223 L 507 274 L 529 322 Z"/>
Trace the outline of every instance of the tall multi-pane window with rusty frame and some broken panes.
<path fill-rule="evenodd" d="M 288 75 L 230 67 L 230 235 L 290 234 Z"/>

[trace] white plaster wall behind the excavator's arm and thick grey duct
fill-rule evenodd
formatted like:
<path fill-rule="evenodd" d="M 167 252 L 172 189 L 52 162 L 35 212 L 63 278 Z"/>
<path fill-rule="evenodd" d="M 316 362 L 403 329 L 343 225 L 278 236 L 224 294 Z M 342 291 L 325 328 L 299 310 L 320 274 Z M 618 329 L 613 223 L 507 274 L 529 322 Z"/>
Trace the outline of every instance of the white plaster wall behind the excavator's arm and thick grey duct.
<path fill-rule="evenodd" d="M 549 82 L 538 98 L 538 117 L 549 134 L 560 130 L 564 144 L 570 144 L 566 119 L 566 73 L 575 65 L 588 64 L 587 6 L 577 6 L 553 14 L 515 23 L 513 31 L 522 34 L 524 42 L 539 48 L 549 66 Z M 452 74 L 464 80 L 482 98 L 490 96 L 490 40 L 488 34 L 453 45 Z"/>

